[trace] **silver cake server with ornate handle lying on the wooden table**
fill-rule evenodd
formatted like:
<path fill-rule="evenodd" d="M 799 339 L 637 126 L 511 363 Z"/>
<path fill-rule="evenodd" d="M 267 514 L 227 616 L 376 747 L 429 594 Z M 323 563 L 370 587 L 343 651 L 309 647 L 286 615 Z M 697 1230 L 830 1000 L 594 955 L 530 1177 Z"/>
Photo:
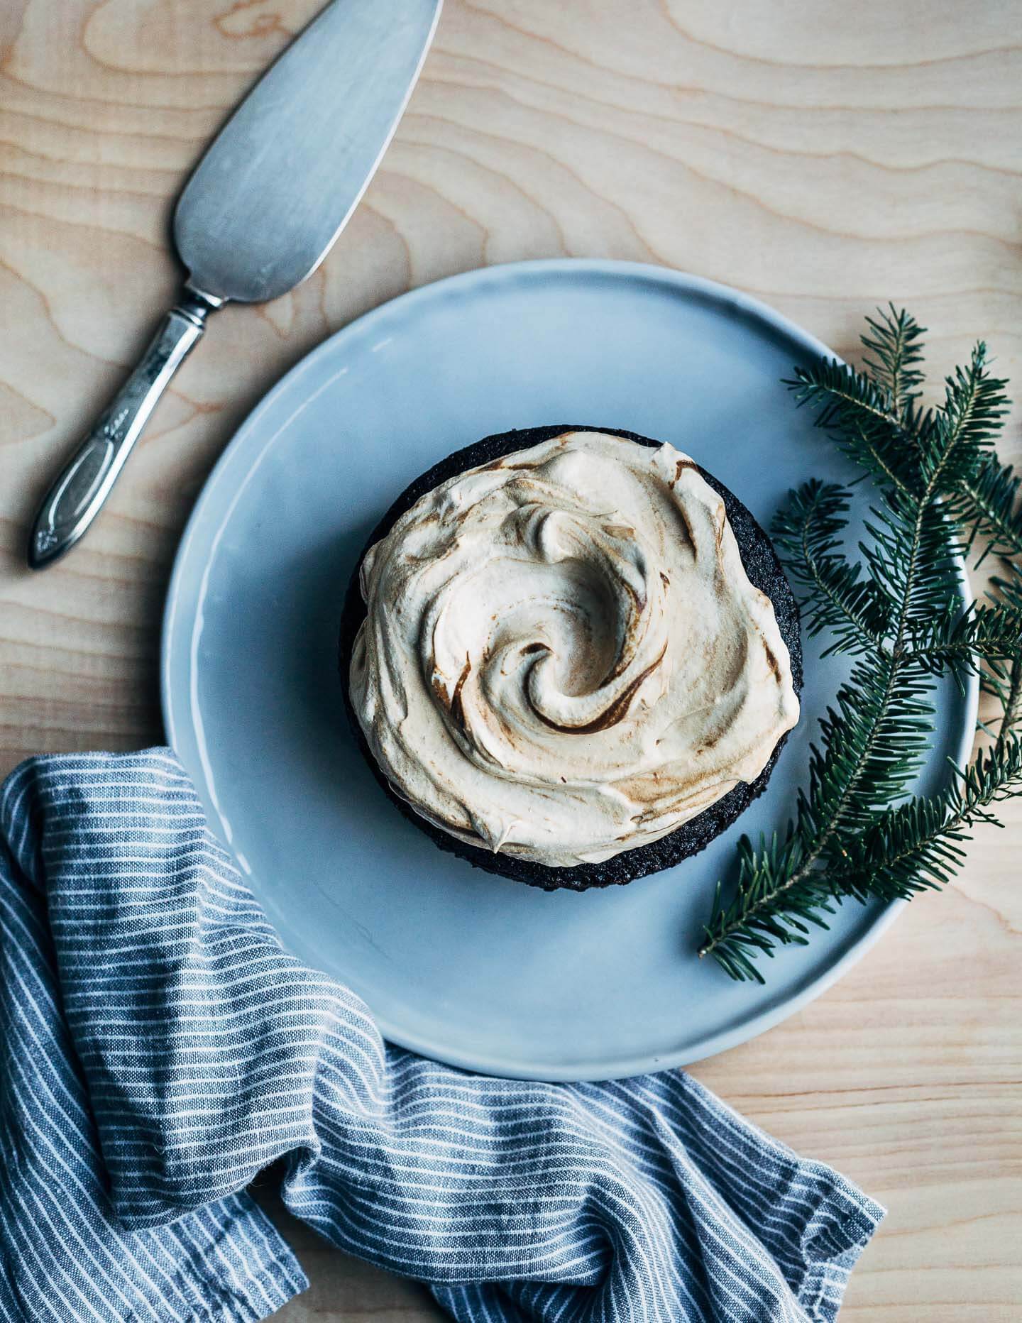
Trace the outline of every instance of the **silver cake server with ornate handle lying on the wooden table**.
<path fill-rule="evenodd" d="M 181 298 L 63 467 L 32 527 L 44 569 L 86 532 L 157 400 L 230 300 L 287 294 L 329 253 L 386 151 L 443 0 L 333 0 L 213 140 L 177 201 Z"/>

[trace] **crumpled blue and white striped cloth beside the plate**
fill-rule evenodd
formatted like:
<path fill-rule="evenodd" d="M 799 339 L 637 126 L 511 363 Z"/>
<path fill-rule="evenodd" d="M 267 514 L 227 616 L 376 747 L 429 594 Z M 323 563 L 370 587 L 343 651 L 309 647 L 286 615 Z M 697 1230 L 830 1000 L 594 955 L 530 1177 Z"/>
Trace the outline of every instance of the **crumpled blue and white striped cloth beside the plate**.
<path fill-rule="evenodd" d="M 0 1316 L 254 1320 L 304 1277 L 245 1193 L 464 1323 L 833 1319 L 883 1216 L 694 1080 L 491 1080 L 284 951 L 167 750 L 0 799 Z"/>

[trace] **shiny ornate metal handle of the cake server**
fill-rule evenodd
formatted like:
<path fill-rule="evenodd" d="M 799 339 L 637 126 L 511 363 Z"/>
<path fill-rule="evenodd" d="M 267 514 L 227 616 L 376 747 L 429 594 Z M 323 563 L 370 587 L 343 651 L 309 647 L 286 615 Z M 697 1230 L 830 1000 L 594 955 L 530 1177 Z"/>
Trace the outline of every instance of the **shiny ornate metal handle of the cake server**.
<path fill-rule="evenodd" d="M 46 492 L 28 544 L 33 570 L 59 560 L 97 517 L 164 388 L 202 335 L 214 307 L 186 290 L 167 314 L 141 363 Z"/>

